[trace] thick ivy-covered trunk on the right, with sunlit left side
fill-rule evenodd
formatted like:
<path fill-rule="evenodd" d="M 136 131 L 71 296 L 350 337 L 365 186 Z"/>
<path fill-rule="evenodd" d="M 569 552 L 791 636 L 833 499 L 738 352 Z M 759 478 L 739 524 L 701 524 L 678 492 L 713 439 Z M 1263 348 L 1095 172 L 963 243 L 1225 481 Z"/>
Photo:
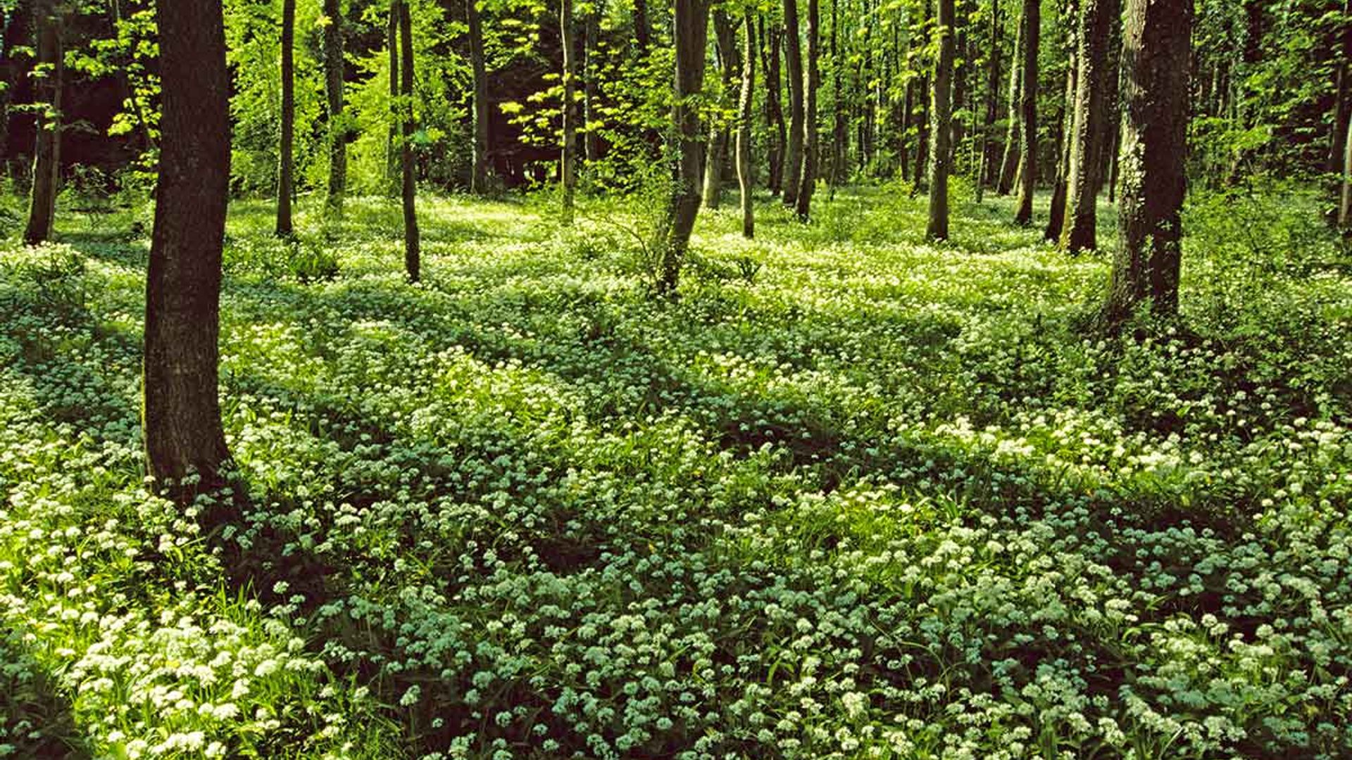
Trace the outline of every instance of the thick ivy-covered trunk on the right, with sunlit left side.
<path fill-rule="evenodd" d="M 1146 302 L 1156 315 L 1178 314 L 1191 28 L 1192 0 L 1126 3 L 1122 249 L 1103 310 L 1111 330 Z"/>

